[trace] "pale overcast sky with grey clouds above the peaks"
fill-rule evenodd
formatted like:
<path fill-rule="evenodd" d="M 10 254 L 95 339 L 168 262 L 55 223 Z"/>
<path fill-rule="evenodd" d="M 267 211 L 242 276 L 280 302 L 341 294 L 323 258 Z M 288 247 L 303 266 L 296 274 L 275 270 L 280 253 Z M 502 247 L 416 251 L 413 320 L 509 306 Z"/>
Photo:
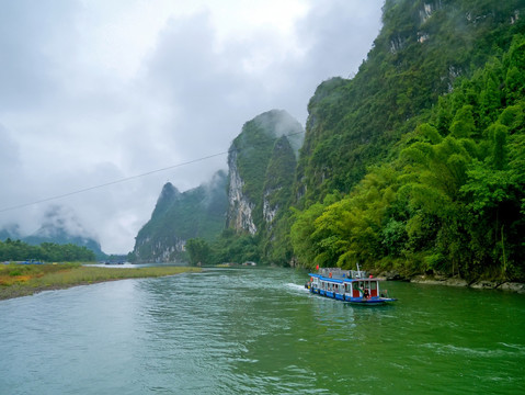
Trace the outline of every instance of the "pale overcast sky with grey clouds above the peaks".
<path fill-rule="evenodd" d="M 0 0 L 0 228 L 31 234 L 61 206 L 105 252 L 130 251 L 162 185 L 197 187 L 226 155 L 182 163 L 272 109 L 305 125 L 316 87 L 357 71 L 381 5 Z"/>

